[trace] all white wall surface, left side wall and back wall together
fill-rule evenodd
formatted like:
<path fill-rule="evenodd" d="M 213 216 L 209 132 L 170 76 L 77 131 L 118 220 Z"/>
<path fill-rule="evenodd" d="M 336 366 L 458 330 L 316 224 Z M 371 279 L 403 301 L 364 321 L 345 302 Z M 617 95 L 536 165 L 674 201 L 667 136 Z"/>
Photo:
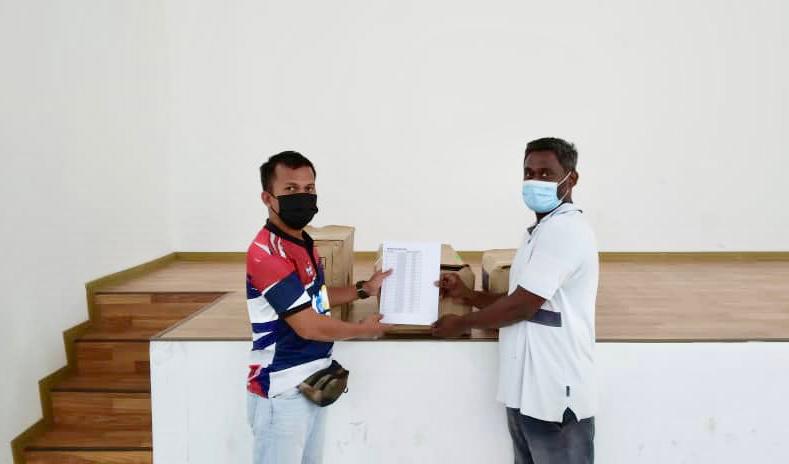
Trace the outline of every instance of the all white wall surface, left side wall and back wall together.
<path fill-rule="evenodd" d="M 357 250 L 515 246 L 545 135 L 578 145 L 602 250 L 789 249 L 788 10 L 0 0 L 0 445 L 40 417 L 84 283 L 245 249 L 283 149 L 315 161 L 317 220 L 355 225 Z"/>

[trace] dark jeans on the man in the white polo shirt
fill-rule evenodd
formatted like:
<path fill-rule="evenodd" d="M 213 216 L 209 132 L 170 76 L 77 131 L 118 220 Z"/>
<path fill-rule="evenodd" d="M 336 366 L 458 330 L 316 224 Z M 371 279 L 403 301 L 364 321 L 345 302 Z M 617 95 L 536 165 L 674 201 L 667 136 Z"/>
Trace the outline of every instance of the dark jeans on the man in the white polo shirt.
<path fill-rule="evenodd" d="M 545 422 L 507 408 L 515 464 L 593 464 L 594 417 L 579 421 L 567 409 L 562 422 Z"/>

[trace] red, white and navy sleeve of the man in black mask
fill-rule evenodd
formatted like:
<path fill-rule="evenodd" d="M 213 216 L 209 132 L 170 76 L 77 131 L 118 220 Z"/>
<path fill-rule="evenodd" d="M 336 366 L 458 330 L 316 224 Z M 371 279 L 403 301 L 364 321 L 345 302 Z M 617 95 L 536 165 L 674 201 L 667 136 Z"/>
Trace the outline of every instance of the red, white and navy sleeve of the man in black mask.
<path fill-rule="evenodd" d="M 249 281 L 280 317 L 312 306 L 310 297 L 292 262 L 250 250 L 247 256 Z"/>

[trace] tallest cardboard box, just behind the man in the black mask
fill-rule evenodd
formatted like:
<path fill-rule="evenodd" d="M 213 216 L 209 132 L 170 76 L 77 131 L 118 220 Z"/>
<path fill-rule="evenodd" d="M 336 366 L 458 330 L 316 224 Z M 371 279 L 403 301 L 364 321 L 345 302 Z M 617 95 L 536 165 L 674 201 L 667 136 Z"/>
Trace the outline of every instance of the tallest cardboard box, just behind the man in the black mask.
<path fill-rule="evenodd" d="M 304 229 L 315 241 L 328 287 L 353 285 L 353 234 L 350 226 L 324 226 Z M 348 320 L 350 305 L 332 308 L 332 317 Z"/>

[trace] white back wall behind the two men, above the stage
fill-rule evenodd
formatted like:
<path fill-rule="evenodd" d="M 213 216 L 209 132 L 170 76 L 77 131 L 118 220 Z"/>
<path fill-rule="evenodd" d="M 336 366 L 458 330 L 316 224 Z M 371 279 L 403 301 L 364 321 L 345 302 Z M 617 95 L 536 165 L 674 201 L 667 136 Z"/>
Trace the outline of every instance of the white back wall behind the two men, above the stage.
<path fill-rule="evenodd" d="M 789 250 L 785 1 L 167 5 L 179 250 L 245 249 L 283 149 L 359 250 L 514 246 L 546 135 L 603 250 Z"/>

